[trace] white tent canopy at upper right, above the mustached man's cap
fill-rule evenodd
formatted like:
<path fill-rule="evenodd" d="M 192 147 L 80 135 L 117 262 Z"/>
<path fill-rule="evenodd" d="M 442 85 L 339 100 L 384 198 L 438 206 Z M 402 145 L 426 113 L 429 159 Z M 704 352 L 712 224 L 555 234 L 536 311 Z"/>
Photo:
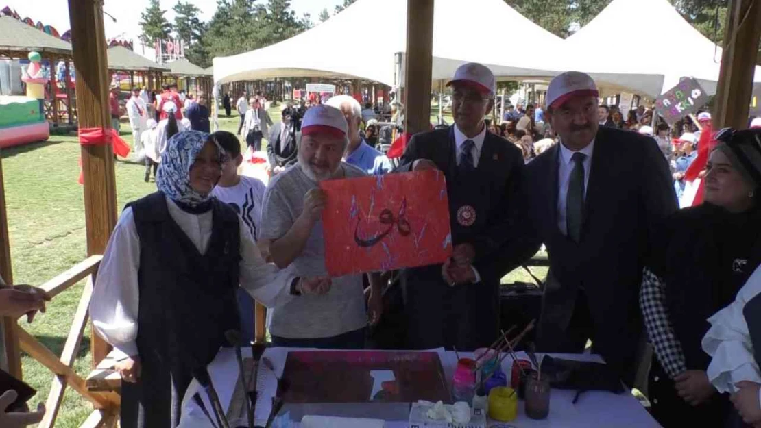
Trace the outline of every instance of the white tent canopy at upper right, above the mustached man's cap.
<path fill-rule="evenodd" d="M 629 35 L 629 28 L 642 30 Z M 613 0 L 568 37 L 561 52 L 565 64 L 595 80 L 651 98 L 683 77 L 698 79 L 708 94 L 715 94 L 721 67 L 721 47 L 685 21 L 668 0 Z M 761 78 L 758 69 L 756 79 Z"/>

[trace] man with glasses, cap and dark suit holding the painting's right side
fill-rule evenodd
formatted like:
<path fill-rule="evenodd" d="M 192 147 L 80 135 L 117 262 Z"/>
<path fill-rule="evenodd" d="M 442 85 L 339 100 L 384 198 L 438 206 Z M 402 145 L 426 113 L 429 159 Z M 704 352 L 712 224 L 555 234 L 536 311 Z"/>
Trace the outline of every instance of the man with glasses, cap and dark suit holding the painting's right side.
<path fill-rule="evenodd" d="M 499 334 L 503 265 L 526 255 L 495 252 L 514 233 L 524 170 L 521 151 L 486 132 L 495 79 L 489 68 L 460 66 L 453 88 L 454 125 L 412 136 L 396 171 L 441 170 L 447 178 L 454 255 L 444 265 L 402 271 L 408 346 L 474 350 Z"/>

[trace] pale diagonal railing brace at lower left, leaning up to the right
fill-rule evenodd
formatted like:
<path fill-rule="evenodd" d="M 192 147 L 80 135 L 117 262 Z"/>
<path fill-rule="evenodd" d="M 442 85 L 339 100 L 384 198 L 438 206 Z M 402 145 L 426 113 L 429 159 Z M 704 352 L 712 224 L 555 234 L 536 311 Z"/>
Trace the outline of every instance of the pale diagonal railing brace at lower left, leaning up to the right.
<path fill-rule="evenodd" d="M 79 299 L 79 306 L 77 312 L 74 314 L 74 321 L 72 321 L 72 327 L 68 330 L 68 336 L 66 337 L 66 343 L 63 345 L 63 352 L 61 353 L 61 362 L 66 366 L 72 367 L 74 360 L 79 350 L 79 344 L 82 341 L 82 334 L 84 333 L 84 327 L 88 323 L 88 306 L 90 305 L 90 299 L 93 294 L 93 281 L 92 276 L 88 279 L 88 283 L 84 285 L 82 296 Z M 63 402 L 63 393 L 66 390 L 67 379 L 65 376 L 53 377 L 53 385 L 50 386 L 50 393 L 45 403 L 45 417 L 37 428 L 53 428 L 56 423 L 56 417 L 58 417 L 58 411 L 61 408 Z"/>

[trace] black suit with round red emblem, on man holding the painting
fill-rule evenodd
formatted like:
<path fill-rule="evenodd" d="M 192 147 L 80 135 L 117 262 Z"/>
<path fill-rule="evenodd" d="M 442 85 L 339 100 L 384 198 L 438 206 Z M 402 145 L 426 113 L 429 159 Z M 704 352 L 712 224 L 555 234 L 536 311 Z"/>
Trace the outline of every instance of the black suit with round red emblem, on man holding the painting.
<path fill-rule="evenodd" d="M 524 172 L 521 151 L 487 132 L 475 170 L 460 170 L 455 153 L 451 127 L 423 132 L 409 141 L 396 169 L 406 172 L 415 160 L 428 159 L 444 173 L 452 243 L 473 245 L 473 267 L 481 277 L 479 284 L 450 287 L 441 277 L 441 265 L 402 271 L 407 345 L 415 349 L 489 346 L 499 334 L 499 268 L 525 258 L 495 257 L 520 227 L 516 219 Z"/>

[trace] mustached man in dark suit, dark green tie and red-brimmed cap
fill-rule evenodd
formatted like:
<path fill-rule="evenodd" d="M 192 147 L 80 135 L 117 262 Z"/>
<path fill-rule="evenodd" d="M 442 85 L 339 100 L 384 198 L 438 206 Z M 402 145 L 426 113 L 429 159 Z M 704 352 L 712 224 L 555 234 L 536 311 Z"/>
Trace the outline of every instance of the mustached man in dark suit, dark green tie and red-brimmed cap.
<path fill-rule="evenodd" d="M 588 75 L 552 79 L 546 103 L 560 144 L 529 163 L 524 179 L 525 243 L 544 243 L 550 265 L 537 345 L 577 353 L 591 339 L 631 385 L 642 268 L 658 224 L 677 210 L 668 165 L 652 138 L 599 125 Z"/>

